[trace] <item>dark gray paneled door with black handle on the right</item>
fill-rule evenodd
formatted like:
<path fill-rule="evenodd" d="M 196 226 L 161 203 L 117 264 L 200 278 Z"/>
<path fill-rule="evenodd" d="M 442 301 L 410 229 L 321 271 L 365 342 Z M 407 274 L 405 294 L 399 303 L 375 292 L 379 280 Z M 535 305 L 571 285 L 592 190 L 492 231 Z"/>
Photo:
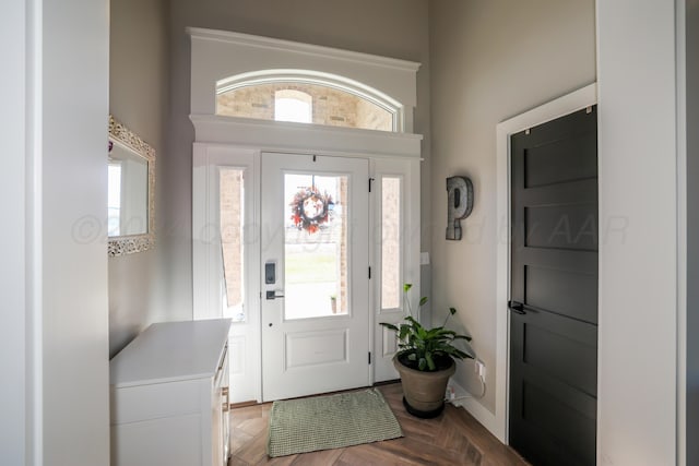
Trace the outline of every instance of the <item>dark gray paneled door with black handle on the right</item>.
<path fill-rule="evenodd" d="M 596 107 L 510 142 L 510 444 L 534 465 L 594 465 Z"/>

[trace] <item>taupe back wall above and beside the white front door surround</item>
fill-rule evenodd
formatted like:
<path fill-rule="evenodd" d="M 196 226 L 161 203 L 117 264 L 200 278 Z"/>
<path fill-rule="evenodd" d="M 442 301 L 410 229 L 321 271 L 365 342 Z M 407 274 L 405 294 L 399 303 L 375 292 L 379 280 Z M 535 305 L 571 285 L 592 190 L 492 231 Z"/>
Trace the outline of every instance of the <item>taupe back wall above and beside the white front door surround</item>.
<path fill-rule="evenodd" d="M 170 14 L 170 119 L 168 154 L 161 160 L 163 192 L 158 206 L 164 225 L 158 232 L 162 261 L 157 273 L 165 284 L 159 308 L 168 319 L 191 319 L 194 134 L 188 118 L 190 44 L 185 27 L 235 31 L 423 63 L 417 79 L 415 131 L 425 134 L 424 156 L 429 159 L 427 0 L 173 0 Z M 428 207 L 428 164 L 423 170 L 423 205 Z"/>

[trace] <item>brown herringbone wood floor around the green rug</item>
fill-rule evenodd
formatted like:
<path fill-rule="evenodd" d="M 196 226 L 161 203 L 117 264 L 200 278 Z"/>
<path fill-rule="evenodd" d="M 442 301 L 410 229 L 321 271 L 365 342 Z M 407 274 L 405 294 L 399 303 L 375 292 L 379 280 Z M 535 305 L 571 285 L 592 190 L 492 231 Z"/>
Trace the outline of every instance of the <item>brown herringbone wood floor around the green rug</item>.
<path fill-rule="evenodd" d="M 438 418 L 418 419 L 405 413 L 400 383 L 379 390 L 401 423 L 402 439 L 269 458 L 265 444 L 272 404 L 266 403 L 230 411 L 233 454 L 228 466 L 528 465 L 464 409 L 447 405 Z"/>

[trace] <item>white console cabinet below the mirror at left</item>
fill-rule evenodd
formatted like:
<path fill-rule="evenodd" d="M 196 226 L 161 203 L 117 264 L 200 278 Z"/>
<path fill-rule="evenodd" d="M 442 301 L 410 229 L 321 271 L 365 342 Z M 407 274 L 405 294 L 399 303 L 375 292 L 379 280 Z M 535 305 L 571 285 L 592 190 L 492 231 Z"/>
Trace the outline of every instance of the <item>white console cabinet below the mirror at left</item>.
<path fill-rule="evenodd" d="M 153 324 L 111 359 L 112 465 L 227 463 L 229 327 Z"/>

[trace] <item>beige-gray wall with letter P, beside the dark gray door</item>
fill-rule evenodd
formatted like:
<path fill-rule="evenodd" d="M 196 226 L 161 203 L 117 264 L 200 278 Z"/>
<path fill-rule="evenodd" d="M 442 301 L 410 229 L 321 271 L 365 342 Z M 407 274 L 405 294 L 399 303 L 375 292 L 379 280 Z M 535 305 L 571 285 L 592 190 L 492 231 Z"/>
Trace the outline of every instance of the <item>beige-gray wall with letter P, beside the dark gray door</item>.
<path fill-rule="evenodd" d="M 459 309 L 486 365 L 482 404 L 495 410 L 496 124 L 595 81 L 594 0 L 430 3 L 433 309 Z M 471 177 L 464 239 L 445 240 L 445 179 Z M 478 393 L 473 365 L 457 380 Z"/>

